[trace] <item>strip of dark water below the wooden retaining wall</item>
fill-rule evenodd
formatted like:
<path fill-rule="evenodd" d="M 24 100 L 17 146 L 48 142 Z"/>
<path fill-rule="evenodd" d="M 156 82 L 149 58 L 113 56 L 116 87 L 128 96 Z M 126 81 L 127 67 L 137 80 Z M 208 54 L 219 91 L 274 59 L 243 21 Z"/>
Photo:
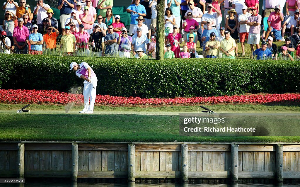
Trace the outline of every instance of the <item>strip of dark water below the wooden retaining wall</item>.
<path fill-rule="evenodd" d="M 0 186 L 18 187 L 298 187 L 300 184 L 120 184 L 120 183 L 93 183 L 93 182 L 26 182 L 25 184 L 0 184 Z"/>

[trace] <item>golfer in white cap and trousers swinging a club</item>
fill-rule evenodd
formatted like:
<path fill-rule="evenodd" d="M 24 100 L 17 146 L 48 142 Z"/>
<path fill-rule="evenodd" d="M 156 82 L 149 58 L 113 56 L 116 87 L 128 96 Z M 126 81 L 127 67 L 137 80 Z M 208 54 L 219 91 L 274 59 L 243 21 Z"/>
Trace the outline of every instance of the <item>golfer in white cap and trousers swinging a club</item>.
<path fill-rule="evenodd" d="M 95 72 L 86 62 L 81 62 L 81 64 L 77 64 L 76 62 L 72 62 L 70 64 L 70 71 L 73 69 L 75 74 L 82 78 L 83 81 L 83 98 L 84 98 L 84 109 L 79 113 L 92 114 L 94 113 L 94 104 L 96 99 L 96 87 L 98 79 L 96 77 Z M 89 98 L 91 97 L 90 105 L 88 106 Z"/>

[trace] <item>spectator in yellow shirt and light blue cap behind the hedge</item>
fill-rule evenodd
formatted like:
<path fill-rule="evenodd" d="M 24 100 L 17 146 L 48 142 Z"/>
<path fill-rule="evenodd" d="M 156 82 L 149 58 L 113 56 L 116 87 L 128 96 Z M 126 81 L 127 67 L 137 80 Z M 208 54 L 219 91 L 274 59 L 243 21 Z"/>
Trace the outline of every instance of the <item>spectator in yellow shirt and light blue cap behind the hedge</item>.
<path fill-rule="evenodd" d="M 70 26 L 65 26 L 65 35 L 61 37 L 60 48 L 64 55 L 73 56 L 76 51 L 76 38 L 70 33 Z"/>

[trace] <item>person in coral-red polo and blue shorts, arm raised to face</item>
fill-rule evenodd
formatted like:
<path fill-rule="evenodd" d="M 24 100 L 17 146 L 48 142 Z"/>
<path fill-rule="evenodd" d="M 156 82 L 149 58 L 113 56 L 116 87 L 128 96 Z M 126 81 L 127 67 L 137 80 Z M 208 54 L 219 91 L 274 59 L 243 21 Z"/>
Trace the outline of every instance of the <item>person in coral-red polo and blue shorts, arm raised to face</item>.
<path fill-rule="evenodd" d="M 275 12 L 271 12 L 268 17 L 268 30 L 265 34 L 265 41 L 267 41 L 270 32 L 273 33 L 275 40 L 281 40 L 281 22 L 283 21 L 283 14 L 280 12 L 279 5 L 275 6 Z"/>

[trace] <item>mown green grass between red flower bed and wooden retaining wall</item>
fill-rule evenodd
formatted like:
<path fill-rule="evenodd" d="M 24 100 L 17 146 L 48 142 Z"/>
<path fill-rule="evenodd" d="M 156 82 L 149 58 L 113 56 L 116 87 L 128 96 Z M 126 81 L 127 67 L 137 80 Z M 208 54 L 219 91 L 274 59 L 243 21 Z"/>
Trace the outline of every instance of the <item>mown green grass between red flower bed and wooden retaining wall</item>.
<path fill-rule="evenodd" d="M 126 141 L 126 142 L 300 142 L 300 137 L 191 137 L 179 135 L 179 112 L 198 106 L 165 108 L 96 107 L 79 114 L 82 106 L 65 113 L 64 106 L 32 105 L 31 113 L 17 114 L 22 105 L 0 105 L 0 140 L 16 141 Z M 39 107 L 41 106 L 41 107 Z M 205 105 L 207 106 L 207 105 Z M 299 112 L 294 106 L 212 105 L 219 112 Z M 41 109 L 41 110 L 38 110 Z M 113 111 L 113 110 L 116 111 Z M 220 109 L 220 110 L 218 110 Z M 245 110 L 242 110 L 245 109 Z M 201 111 L 201 108 L 199 109 Z M 165 113 L 165 111 L 168 111 Z M 115 114 L 115 113 L 128 114 Z M 162 115 L 152 115 L 156 113 Z M 113 114 L 105 114 L 113 113 Z M 139 114 L 131 114 L 139 113 Z M 168 115 L 166 115 L 168 114 Z"/>

